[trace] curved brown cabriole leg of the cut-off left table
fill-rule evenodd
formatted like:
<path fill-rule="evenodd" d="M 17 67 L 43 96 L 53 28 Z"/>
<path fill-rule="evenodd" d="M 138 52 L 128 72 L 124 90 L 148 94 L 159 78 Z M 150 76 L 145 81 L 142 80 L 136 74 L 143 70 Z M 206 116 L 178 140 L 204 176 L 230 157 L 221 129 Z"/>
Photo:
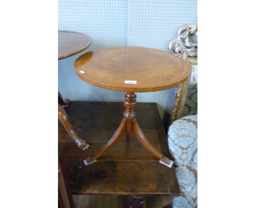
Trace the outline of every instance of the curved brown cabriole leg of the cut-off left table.
<path fill-rule="evenodd" d="M 67 112 L 65 109 L 58 104 L 58 119 L 60 120 L 61 124 L 65 128 L 65 130 L 68 132 L 69 136 L 74 140 L 75 144 L 83 150 L 87 149 L 89 147 L 89 144 L 85 142 L 85 140 L 80 139 L 77 134 L 75 133 L 70 120 L 68 118 Z"/>

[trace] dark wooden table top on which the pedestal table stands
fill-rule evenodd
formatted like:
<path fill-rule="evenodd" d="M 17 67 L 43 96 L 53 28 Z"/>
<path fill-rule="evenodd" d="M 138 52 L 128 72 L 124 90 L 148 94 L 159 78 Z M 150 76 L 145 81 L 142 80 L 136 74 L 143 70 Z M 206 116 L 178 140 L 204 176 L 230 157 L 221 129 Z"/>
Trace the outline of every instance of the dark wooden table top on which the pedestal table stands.
<path fill-rule="evenodd" d="M 156 103 L 137 103 L 136 108 L 138 123 L 149 142 L 171 158 Z M 89 149 L 79 149 L 59 124 L 59 148 L 74 194 L 180 193 L 174 167 L 159 163 L 132 134 L 126 134 L 97 162 L 84 165 L 83 160 L 101 148 L 117 129 L 124 111 L 123 102 L 72 101 L 66 111 L 75 132 L 90 144 Z"/>

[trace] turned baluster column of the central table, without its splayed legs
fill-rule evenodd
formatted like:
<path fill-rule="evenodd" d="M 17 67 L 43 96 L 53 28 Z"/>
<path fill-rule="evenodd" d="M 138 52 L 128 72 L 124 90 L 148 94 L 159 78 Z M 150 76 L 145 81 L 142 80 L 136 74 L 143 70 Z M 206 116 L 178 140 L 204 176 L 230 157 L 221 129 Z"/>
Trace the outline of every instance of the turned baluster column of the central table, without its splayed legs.
<path fill-rule="evenodd" d="M 125 93 L 125 112 L 123 114 L 126 121 L 126 132 L 130 133 L 132 131 L 132 120 L 136 118 L 134 108 L 136 105 L 136 94 L 135 93 Z"/>

